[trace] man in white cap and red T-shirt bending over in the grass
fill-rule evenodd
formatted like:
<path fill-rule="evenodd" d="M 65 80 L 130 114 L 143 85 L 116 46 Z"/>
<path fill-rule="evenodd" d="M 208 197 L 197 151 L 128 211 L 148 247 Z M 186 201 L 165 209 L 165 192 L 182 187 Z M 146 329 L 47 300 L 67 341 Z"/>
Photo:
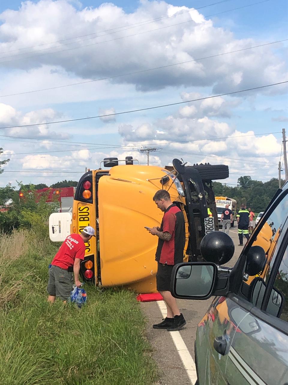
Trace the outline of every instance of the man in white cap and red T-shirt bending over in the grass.
<path fill-rule="evenodd" d="M 84 242 L 88 242 L 93 236 L 95 236 L 93 227 L 86 226 L 81 234 L 70 234 L 62 243 L 49 269 L 47 286 L 49 302 L 54 302 L 56 297 L 60 297 L 63 302 L 68 300 L 73 286 L 72 271 L 75 285 L 81 286 L 79 270 L 80 262 L 85 255 Z"/>

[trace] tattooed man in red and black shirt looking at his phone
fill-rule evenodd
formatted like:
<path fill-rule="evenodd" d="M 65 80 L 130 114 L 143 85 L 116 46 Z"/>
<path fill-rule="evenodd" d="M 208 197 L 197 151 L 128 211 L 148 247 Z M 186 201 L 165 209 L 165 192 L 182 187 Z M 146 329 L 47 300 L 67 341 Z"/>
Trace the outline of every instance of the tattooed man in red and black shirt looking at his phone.
<path fill-rule="evenodd" d="M 183 262 L 185 246 L 185 220 L 182 211 L 172 203 L 170 194 L 166 190 L 159 190 L 153 197 L 157 207 L 164 212 L 159 227 L 147 229 L 150 234 L 156 235 L 158 246 L 156 250 L 157 290 L 162 295 L 166 307 L 167 317 L 161 323 L 153 325 L 154 329 L 180 330 L 186 321 L 180 313 L 176 299 L 170 292 L 170 280 L 173 266 Z"/>

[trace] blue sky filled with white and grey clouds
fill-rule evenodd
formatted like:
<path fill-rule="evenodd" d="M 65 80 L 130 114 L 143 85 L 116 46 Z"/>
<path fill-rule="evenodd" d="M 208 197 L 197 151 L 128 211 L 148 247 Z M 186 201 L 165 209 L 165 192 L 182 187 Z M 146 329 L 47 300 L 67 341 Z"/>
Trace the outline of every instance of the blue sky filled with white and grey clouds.
<path fill-rule="evenodd" d="M 287 84 L 242 91 L 288 80 L 287 22 L 284 0 L 2 0 L 0 187 L 146 164 L 143 147 L 227 164 L 230 184 L 278 177 Z"/>

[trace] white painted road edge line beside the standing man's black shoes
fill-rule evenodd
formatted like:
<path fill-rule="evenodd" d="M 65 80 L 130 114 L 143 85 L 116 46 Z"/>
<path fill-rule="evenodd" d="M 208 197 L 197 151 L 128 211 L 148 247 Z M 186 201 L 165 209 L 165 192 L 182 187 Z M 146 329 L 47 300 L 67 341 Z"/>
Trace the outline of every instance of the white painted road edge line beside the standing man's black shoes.
<path fill-rule="evenodd" d="M 162 313 L 162 316 L 165 318 L 167 316 L 166 305 L 164 301 L 157 301 L 157 305 Z M 187 375 L 190 379 L 190 382 L 194 385 L 197 381 L 196 366 L 192 356 L 185 345 L 183 338 L 181 337 L 179 331 L 169 331 L 172 340 L 176 346 L 177 352 L 181 358 L 181 361 L 184 365 L 184 368 L 187 372 Z"/>

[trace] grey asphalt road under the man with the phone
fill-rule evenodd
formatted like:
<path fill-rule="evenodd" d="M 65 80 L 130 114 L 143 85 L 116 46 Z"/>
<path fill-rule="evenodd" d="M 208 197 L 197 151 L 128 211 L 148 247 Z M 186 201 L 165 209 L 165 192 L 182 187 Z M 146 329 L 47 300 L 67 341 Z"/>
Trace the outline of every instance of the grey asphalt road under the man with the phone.
<path fill-rule="evenodd" d="M 230 229 L 229 235 L 234 241 L 235 253 L 233 258 L 225 266 L 232 267 L 236 263 L 243 247 L 238 246 L 237 227 Z M 246 239 L 244 237 L 244 244 L 245 240 Z M 213 297 L 206 301 L 177 300 L 180 311 L 183 313 L 185 320 L 187 321 L 185 328 L 180 331 L 180 336 L 187 346 L 187 350 L 193 360 L 194 340 L 197 325 L 205 315 L 212 300 Z M 147 317 L 147 338 L 152 345 L 153 356 L 161 372 L 161 380 L 157 382 L 157 385 L 194 385 L 195 381 L 193 381 L 191 377 L 189 378 L 180 355 L 177 352 L 175 343 L 172 340 L 172 333 L 178 332 L 169 333 L 167 330 L 155 330 L 152 328 L 153 323 L 159 323 L 163 318 L 157 302 L 144 302 L 141 303 L 141 306 Z M 180 349 L 182 348 L 180 347 Z M 187 355 L 187 352 L 184 353 Z"/>

